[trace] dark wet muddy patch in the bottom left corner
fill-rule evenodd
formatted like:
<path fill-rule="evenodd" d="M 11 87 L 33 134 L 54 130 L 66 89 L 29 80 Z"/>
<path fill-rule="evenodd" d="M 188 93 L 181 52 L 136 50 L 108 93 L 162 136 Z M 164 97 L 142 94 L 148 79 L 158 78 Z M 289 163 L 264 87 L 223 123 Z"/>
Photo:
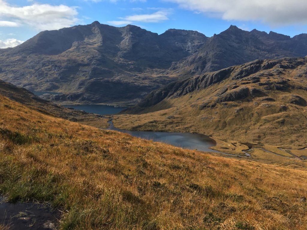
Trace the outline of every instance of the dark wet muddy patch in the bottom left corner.
<path fill-rule="evenodd" d="M 0 197 L 0 224 L 10 230 L 55 230 L 59 219 L 60 212 L 47 204 L 7 203 Z"/>

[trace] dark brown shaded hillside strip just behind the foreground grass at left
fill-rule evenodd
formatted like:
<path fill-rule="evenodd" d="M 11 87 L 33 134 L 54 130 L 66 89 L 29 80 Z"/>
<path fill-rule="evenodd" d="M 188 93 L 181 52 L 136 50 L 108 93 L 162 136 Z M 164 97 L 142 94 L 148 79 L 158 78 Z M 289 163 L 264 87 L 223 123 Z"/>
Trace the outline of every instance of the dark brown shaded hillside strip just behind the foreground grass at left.
<path fill-rule="evenodd" d="M 86 113 L 84 111 L 68 109 L 61 105 L 43 100 L 35 96 L 29 90 L 19 88 L 10 83 L 0 80 L 0 95 L 24 104 L 29 108 L 53 117 L 63 118 L 69 121 L 79 122 L 84 125 L 91 125 L 97 128 L 107 128 L 108 119 L 98 114 Z M 9 107 L 8 107 L 9 108 Z"/>

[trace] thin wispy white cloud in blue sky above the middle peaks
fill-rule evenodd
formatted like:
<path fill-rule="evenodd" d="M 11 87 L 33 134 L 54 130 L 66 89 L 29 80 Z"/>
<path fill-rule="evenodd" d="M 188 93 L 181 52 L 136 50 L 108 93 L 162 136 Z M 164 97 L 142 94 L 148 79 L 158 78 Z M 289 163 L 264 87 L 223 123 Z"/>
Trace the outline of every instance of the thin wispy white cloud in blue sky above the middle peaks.
<path fill-rule="evenodd" d="M 147 23 L 157 23 L 160 21 L 168 20 L 167 15 L 170 12 L 168 10 L 159 10 L 151 14 L 134 14 L 126 17 L 120 17 L 119 21 L 108 21 L 111 25 L 127 25 L 133 22 L 147 22 Z"/>

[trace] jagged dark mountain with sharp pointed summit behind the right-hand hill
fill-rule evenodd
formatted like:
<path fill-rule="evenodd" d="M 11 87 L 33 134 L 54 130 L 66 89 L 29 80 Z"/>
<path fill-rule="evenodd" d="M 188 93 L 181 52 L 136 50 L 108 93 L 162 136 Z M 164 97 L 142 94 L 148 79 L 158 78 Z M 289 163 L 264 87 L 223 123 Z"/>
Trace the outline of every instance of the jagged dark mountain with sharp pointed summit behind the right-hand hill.
<path fill-rule="evenodd" d="M 173 63 L 166 73 L 185 78 L 255 59 L 304 57 L 307 54 L 306 41 L 306 34 L 290 38 L 283 34 L 267 34 L 256 29 L 248 32 L 231 25 L 227 30 L 208 39 L 192 56 Z M 248 74 L 257 71 L 257 67 L 259 66 L 250 66 L 251 69 L 242 71 Z"/>

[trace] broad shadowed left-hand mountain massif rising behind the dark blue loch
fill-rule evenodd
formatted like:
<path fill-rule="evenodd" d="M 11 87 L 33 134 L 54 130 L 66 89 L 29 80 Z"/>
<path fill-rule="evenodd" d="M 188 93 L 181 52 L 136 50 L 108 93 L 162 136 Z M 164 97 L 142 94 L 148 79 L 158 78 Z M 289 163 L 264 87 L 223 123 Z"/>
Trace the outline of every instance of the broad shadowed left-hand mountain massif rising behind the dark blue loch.
<path fill-rule="evenodd" d="M 54 101 L 135 104 L 172 81 L 155 69 L 167 69 L 206 40 L 196 31 L 159 36 L 134 25 L 95 21 L 43 31 L 15 48 L 2 49 L 0 78 L 29 90 L 64 94 L 50 95 Z"/>

